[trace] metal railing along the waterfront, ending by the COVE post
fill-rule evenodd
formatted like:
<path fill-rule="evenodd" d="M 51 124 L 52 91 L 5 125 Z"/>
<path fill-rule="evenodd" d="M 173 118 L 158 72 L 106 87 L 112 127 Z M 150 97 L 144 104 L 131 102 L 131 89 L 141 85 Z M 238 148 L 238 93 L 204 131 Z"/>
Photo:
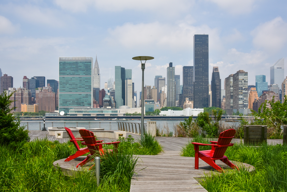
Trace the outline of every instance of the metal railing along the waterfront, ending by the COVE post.
<path fill-rule="evenodd" d="M 21 126 L 26 130 L 41 130 L 44 127 L 43 121 L 21 121 Z M 48 127 L 84 127 L 86 129 L 104 128 L 105 130 L 121 130 L 130 133 L 141 133 L 141 123 L 123 121 L 46 121 Z M 146 130 L 146 123 L 144 123 Z"/>

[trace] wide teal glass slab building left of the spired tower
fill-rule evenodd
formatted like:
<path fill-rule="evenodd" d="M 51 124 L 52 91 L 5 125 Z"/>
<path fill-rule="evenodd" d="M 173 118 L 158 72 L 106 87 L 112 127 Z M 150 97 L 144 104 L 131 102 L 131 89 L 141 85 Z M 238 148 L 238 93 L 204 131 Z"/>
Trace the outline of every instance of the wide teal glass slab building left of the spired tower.
<path fill-rule="evenodd" d="M 93 106 L 92 69 L 92 57 L 59 57 L 59 111 Z"/>

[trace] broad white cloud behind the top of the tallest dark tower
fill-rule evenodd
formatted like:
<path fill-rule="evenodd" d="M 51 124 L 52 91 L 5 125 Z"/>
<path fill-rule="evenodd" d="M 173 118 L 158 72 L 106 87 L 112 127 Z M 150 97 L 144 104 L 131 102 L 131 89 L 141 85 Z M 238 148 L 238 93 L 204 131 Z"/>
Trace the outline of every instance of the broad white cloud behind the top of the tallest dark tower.
<path fill-rule="evenodd" d="M 168 50 L 186 50 L 193 48 L 194 34 L 208 34 L 209 47 L 218 50 L 221 47 L 218 29 L 207 25 L 192 26 L 185 22 L 177 25 L 159 22 L 132 24 L 125 23 L 115 29 L 109 29 L 110 37 L 106 41 L 127 48 L 160 48 Z"/>

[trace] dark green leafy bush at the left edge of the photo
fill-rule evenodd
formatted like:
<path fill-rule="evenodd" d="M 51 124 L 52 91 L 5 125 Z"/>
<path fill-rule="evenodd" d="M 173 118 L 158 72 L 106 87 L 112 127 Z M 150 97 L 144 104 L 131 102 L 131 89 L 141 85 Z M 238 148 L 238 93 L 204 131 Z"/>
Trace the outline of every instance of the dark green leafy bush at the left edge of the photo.
<path fill-rule="evenodd" d="M 24 126 L 20 126 L 20 118 L 13 116 L 11 113 L 15 107 L 10 109 L 10 104 L 13 102 L 9 100 L 10 95 L 4 91 L 0 95 L 0 145 L 16 146 L 18 142 L 29 141 L 28 130 L 24 130 Z"/>

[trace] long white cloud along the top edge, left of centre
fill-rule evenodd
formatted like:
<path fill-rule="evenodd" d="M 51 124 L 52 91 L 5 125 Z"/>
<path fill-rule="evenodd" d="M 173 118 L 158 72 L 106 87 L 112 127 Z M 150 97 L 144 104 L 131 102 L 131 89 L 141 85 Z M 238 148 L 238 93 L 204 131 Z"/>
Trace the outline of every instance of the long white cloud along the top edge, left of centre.
<path fill-rule="evenodd" d="M 73 12 L 86 12 L 89 7 L 95 7 L 99 11 L 119 12 L 123 10 L 168 12 L 173 15 L 178 12 L 187 11 L 193 5 L 188 0 L 54 0 L 56 5 L 62 9 Z"/>

